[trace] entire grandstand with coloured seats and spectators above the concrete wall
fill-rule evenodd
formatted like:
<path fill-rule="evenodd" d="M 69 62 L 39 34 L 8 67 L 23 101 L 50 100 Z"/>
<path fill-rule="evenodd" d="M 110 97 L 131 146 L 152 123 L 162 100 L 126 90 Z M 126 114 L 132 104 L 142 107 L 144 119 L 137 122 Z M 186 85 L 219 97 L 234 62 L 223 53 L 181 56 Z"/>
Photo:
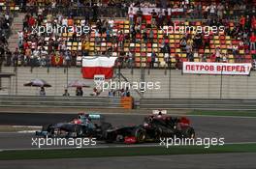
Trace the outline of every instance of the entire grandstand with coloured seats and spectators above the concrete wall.
<path fill-rule="evenodd" d="M 115 2 L 116 5 L 113 5 Z M 65 5 L 67 9 L 63 8 Z M 16 44 L 9 44 L 13 53 L 5 55 L 5 65 L 81 67 L 82 56 L 97 55 L 117 57 L 115 66 L 121 68 L 180 70 L 183 62 L 254 65 L 255 5 L 255 0 L 125 3 L 107 0 L 101 3 L 78 1 L 74 4 L 47 0 L 24 4 L 2 0 L 1 10 L 6 14 L 14 13 L 13 24 L 22 25 L 18 36 L 11 38 L 11 42 Z M 140 9 L 143 10 L 141 20 Z M 51 28 L 88 27 L 88 32 L 48 33 L 48 25 Z M 167 31 L 163 29 L 165 26 L 175 27 L 175 30 Z M 179 31 L 180 27 L 212 26 L 223 29 L 214 32 L 208 28 L 203 33 Z M 37 32 L 40 27 L 45 33 Z M 14 34 L 16 31 L 13 28 Z"/>

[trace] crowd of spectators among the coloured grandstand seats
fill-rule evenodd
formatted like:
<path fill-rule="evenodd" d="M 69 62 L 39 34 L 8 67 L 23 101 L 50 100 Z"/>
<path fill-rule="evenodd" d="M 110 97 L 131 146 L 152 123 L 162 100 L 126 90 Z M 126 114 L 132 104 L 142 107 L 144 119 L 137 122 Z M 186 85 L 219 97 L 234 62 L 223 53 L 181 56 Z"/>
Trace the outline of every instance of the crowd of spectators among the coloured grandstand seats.
<path fill-rule="evenodd" d="M 153 43 L 154 41 L 154 29 L 160 29 L 164 25 L 174 25 L 174 15 L 168 14 L 166 8 L 182 8 L 184 9 L 183 15 L 185 18 L 205 18 L 202 20 L 202 25 L 208 26 L 224 26 L 225 35 L 240 41 L 238 44 L 230 43 L 227 46 L 228 53 L 222 53 L 221 48 L 217 46 L 214 53 L 201 54 L 201 49 L 210 48 L 210 41 L 215 35 L 205 36 L 204 34 L 192 35 L 190 33 L 184 33 L 180 38 L 179 46 L 182 52 L 186 53 L 188 61 L 193 62 L 194 58 L 201 58 L 201 61 L 207 62 L 228 62 L 227 54 L 231 53 L 238 58 L 239 62 L 242 62 L 240 56 L 240 49 L 243 49 L 246 53 L 256 50 L 255 48 L 255 31 L 256 31 L 256 18 L 255 18 L 255 6 L 250 5 L 247 1 L 230 0 L 221 1 L 221 3 L 207 3 L 205 1 L 199 1 L 197 3 L 189 0 L 185 1 L 112 1 L 105 0 L 101 4 L 88 4 L 86 1 L 48 1 L 46 5 L 51 8 L 36 7 L 36 1 L 29 1 L 25 4 L 27 9 L 30 9 L 23 19 L 23 30 L 18 32 L 18 46 L 16 50 L 11 53 L 8 49 L 8 43 L 6 40 L 6 30 L 9 29 L 10 20 L 6 15 L 0 19 L 1 23 L 1 45 L 0 52 L 5 52 L 4 60 L 6 60 L 7 66 L 31 66 L 31 67 L 49 67 L 49 66 L 77 66 L 78 56 L 89 55 L 90 39 L 91 35 L 95 36 L 96 46 L 100 46 L 101 42 L 112 42 L 112 46 L 108 47 L 107 51 L 95 50 L 95 54 L 112 55 L 112 52 L 118 52 L 119 56 L 117 60 L 117 66 L 132 68 L 135 62 L 135 52 L 132 50 L 124 51 L 125 42 L 143 42 Z M 66 4 L 67 3 L 67 4 Z M 54 12 L 54 8 L 66 4 L 70 6 L 92 6 L 92 14 L 84 14 L 80 18 L 81 26 L 91 27 L 92 24 L 96 25 L 94 32 L 88 34 L 74 32 L 70 38 L 63 37 L 59 33 L 43 33 L 38 35 L 37 32 L 33 32 L 33 27 L 39 27 L 45 25 L 45 19 L 48 25 L 54 27 L 57 25 L 62 26 L 74 26 L 76 14 L 69 13 L 67 15 L 61 12 Z M 23 4 L 24 5 L 24 4 Z M 129 13 L 129 33 L 123 31 L 114 32 L 114 18 L 102 19 L 99 16 L 99 7 L 114 8 L 122 7 Z M 203 8 L 204 6 L 204 8 Z M 136 13 L 133 12 L 134 8 L 139 8 Z M 160 12 L 151 12 L 150 25 L 146 24 L 144 13 L 141 8 L 162 8 Z M 85 9 L 85 8 L 84 8 Z M 234 10 L 236 13 L 234 13 Z M 84 10 L 86 11 L 86 10 Z M 238 13 L 237 13 L 238 12 Z M 89 12 L 88 12 L 89 13 Z M 233 14 L 232 14 L 233 13 Z M 235 17 L 233 17 L 235 16 Z M 230 26 L 232 18 L 236 18 L 235 25 Z M 2 20 L 2 21 L 1 21 Z M 190 21 L 188 21 L 190 22 Z M 143 28 L 143 24 L 145 27 Z M 91 31 L 91 30 L 90 30 Z M 103 38 L 102 35 L 106 34 Z M 48 41 L 46 41 L 48 39 Z M 77 50 L 71 50 L 67 46 L 67 42 L 80 42 L 81 48 Z M 46 47 L 47 46 L 47 47 Z M 143 46 L 144 47 L 144 46 Z M 172 54 L 172 47 L 170 46 L 170 39 L 168 36 L 163 37 L 161 42 L 160 52 L 164 53 L 164 60 L 168 67 L 172 66 L 172 58 L 176 59 L 176 68 L 180 67 L 182 61 L 179 60 L 178 53 Z M 147 67 L 154 68 L 154 63 L 158 57 L 158 51 L 151 51 L 151 55 L 147 56 Z M 61 63 L 61 64 L 60 64 Z"/>

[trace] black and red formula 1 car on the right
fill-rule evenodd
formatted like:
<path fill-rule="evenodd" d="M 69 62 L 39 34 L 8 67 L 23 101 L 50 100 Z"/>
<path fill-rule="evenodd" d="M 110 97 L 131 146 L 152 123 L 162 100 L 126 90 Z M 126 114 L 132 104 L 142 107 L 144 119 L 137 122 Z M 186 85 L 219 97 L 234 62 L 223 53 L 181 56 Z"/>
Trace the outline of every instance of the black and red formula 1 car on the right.
<path fill-rule="evenodd" d="M 195 130 L 185 118 L 166 115 L 151 115 L 144 118 L 144 124 L 132 127 L 112 127 L 107 129 L 105 140 L 108 143 L 158 142 L 164 137 L 195 138 Z"/>

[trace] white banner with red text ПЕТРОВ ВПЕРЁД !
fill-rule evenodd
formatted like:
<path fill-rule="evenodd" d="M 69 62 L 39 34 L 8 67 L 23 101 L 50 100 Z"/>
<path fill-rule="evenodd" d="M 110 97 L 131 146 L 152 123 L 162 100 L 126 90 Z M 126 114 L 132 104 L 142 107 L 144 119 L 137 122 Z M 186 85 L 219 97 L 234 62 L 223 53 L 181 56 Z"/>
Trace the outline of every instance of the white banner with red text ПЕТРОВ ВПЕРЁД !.
<path fill-rule="evenodd" d="M 248 75 L 252 65 L 250 63 L 208 63 L 208 62 L 183 62 L 183 73 L 191 74 L 227 74 Z"/>

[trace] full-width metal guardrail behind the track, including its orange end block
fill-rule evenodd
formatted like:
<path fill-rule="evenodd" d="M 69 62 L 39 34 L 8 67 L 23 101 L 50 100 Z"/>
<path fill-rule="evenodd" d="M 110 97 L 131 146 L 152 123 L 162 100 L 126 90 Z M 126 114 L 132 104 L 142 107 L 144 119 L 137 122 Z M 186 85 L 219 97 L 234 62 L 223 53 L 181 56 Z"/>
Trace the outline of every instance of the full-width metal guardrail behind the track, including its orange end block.
<path fill-rule="evenodd" d="M 31 108 L 134 108 L 134 99 L 93 97 L 1 96 L 0 107 Z M 140 99 L 140 109 L 256 110 L 256 99 Z"/>

